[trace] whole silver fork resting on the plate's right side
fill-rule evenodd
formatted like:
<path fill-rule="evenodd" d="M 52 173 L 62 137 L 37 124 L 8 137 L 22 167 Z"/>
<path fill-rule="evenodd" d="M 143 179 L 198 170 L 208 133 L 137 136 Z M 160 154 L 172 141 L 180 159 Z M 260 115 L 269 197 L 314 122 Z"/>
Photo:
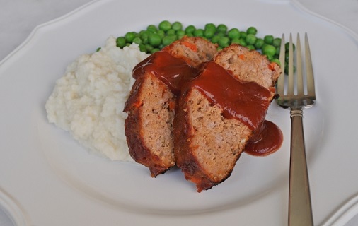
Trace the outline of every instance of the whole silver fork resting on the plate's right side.
<path fill-rule="evenodd" d="M 279 61 L 284 71 L 285 49 L 284 35 L 282 35 Z M 294 58 L 296 58 L 296 73 L 294 73 Z M 306 150 L 304 145 L 304 128 L 302 123 L 302 109 L 312 107 L 316 101 L 315 85 L 311 53 L 305 34 L 305 68 L 302 73 L 301 42 L 299 34 L 296 41 L 296 57 L 292 35 L 289 36 L 289 69 L 288 76 L 279 76 L 277 81 L 277 103 L 290 109 L 291 114 L 291 157 L 289 169 L 289 225 L 313 225 L 311 195 L 308 182 Z M 288 81 L 285 81 L 288 80 Z"/>

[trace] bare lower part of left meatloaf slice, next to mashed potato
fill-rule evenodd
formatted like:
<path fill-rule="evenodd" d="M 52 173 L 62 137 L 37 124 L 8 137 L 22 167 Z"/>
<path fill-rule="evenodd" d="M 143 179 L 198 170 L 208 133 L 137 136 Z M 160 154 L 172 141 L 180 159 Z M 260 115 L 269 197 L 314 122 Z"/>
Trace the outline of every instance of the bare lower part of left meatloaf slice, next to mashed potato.
<path fill-rule="evenodd" d="M 152 177 L 175 165 L 174 108 L 175 97 L 171 90 L 149 72 L 137 78 L 125 104 L 125 112 L 129 112 L 125 120 L 129 154 L 148 167 Z"/>

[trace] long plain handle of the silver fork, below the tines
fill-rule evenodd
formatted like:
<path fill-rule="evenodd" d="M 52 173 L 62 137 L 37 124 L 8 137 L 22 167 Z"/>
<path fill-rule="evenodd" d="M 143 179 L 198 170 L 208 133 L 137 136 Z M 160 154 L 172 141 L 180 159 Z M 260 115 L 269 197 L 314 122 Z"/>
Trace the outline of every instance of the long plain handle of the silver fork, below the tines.
<path fill-rule="evenodd" d="M 313 225 L 301 108 L 291 109 L 289 226 Z"/>

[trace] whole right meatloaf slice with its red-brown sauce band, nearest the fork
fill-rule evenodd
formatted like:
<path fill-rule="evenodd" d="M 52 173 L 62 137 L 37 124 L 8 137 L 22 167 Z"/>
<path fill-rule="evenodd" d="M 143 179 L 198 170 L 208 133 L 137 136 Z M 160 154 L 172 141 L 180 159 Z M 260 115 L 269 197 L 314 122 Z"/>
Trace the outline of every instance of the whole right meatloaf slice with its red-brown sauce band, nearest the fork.
<path fill-rule="evenodd" d="M 176 164 L 198 192 L 231 175 L 246 143 L 265 119 L 272 85 L 281 73 L 265 56 L 236 44 L 218 52 L 214 61 L 183 88 L 174 119 Z M 208 86 L 212 83 L 216 86 Z"/>

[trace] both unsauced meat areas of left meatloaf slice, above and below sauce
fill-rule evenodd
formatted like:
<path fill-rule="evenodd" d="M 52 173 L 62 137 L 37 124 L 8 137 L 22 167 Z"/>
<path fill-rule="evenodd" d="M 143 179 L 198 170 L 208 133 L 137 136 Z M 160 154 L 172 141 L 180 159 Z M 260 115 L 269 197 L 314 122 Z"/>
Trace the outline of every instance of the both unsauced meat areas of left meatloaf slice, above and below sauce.
<path fill-rule="evenodd" d="M 199 37 L 183 37 L 163 51 L 197 66 L 212 59 L 216 45 Z M 152 177 L 175 165 L 172 137 L 175 101 L 175 94 L 168 85 L 144 68 L 125 104 L 129 154 L 148 167 Z"/>

